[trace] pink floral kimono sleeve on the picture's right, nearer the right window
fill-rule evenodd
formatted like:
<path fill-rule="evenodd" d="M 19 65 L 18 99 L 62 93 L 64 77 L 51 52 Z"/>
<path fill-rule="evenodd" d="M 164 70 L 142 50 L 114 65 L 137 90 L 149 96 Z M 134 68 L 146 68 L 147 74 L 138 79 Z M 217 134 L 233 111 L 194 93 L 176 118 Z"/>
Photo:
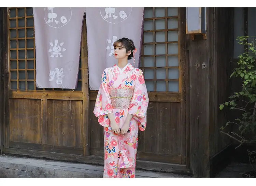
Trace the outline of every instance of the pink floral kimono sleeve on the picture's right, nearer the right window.
<path fill-rule="evenodd" d="M 138 77 L 136 78 L 133 97 L 131 99 L 128 113 L 133 115 L 133 118 L 138 121 L 139 129 L 141 131 L 146 129 L 146 113 L 148 106 L 147 88 L 144 81 L 143 72 L 139 70 Z"/>

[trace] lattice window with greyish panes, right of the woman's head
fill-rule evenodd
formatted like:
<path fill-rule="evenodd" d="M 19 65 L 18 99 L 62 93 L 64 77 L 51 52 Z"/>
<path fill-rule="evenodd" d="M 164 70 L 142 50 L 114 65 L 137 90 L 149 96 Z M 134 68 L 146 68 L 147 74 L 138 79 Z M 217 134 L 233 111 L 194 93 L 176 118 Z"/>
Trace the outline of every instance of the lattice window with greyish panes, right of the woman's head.
<path fill-rule="evenodd" d="M 148 91 L 179 92 L 178 8 L 145 8 L 140 68 Z"/>

